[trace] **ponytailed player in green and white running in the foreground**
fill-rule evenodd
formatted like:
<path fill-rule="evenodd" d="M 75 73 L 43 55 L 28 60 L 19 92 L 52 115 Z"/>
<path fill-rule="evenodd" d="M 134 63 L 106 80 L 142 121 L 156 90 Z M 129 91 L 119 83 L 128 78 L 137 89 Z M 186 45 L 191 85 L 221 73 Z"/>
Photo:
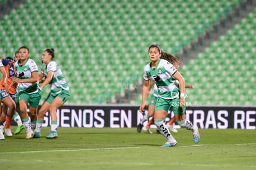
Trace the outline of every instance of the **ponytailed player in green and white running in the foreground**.
<path fill-rule="evenodd" d="M 142 104 L 139 110 L 143 113 L 145 100 L 148 95 L 149 81 L 153 80 L 158 87 L 154 122 L 160 133 L 168 139 L 168 142 L 164 143 L 161 147 L 174 147 L 177 145 L 173 135 L 171 135 L 168 127 L 164 124 L 164 119 L 170 107 L 173 109 L 177 124 L 192 130 L 194 142 L 198 143 L 200 138 L 198 127 L 186 119 L 185 80 L 176 67 L 171 64 L 172 62 L 166 60 L 168 58 L 165 58 L 165 54 L 159 45 L 151 45 L 148 48 L 148 57 L 151 62 L 144 67 Z M 173 77 L 179 81 L 179 88 L 174 84 Z"/>

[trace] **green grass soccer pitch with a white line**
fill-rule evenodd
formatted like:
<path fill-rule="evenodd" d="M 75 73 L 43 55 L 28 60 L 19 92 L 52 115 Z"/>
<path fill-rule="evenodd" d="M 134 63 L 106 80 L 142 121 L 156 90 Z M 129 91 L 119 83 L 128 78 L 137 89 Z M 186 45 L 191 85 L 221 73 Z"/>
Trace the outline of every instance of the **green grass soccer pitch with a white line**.
<path fill-rule="evenodd" d="M 12 127 L 14 131 L 15 126 Z M 1 169 L 256 169 L 255 130 L 178 129 L 177 146 L 161 148 L 166 139 L 135 128 L 64 128 L 59 138 L 25 139 L 25 130 L 0 140 Z"/>

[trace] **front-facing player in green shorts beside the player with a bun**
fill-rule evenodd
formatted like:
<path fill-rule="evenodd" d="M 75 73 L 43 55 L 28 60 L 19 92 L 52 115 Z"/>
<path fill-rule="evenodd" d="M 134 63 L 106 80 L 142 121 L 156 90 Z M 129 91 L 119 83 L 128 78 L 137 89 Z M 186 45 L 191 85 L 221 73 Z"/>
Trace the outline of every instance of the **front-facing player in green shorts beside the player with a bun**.
<path fill-rule="evenodd" d="M 27 129 L 27 139 L 33 137 L 33 129 L 36 124 L 36 112 L 41 99 L 41 90 L 38 86 L 38 67 L 35 61 L 28 59 L 30 56 L 27 46 L 19 48 L 19 61 L 15 62 L 16 77 L 12 78 L 13 83 L 18 83 L 17 93 L 19 94 L 20 117 Z M 29 104 L 30 119 L 27 108 Z"/>

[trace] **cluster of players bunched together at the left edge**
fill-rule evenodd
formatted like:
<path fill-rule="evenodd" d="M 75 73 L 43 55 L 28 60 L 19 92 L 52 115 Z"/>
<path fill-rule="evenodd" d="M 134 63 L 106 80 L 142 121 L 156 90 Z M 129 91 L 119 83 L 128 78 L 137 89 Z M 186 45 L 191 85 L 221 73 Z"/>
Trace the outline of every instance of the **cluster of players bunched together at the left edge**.
<path fill-rule="evenodd" d="M 57 138 L 58 117 L 56 109 L 62 106 L 70 97 L 69 87 L 58 64 L 53 61 L 54 49 L 45 49 L 41 62 L 45 65 L 38 70 L 30 56 L 27 46 L 19 48 L 15 58 L 7 57 L 0 60 L 2 79 L 0 82 L 0 101 L 2 103 L 0 117 L 0 140 L 12 136 L 11 121 L 17 122 L 14 134 L 27 130 L 26 138 L 40 138 L 44 116 L 49 111 L 51 115 L 51 132 L 46 138 Z M 38 74 L 38 72 L 40 73 Z M 38 111 L 41 91 L 49 84 L 51 91 Z M 30 114 L 27 108 L 29 105 Z M 19 108 L 19 109 L 18 109 Z M 16 113 L 16 109 L 20 114 Z M 4 125 L 6 129 L 4 129 Z"/>

